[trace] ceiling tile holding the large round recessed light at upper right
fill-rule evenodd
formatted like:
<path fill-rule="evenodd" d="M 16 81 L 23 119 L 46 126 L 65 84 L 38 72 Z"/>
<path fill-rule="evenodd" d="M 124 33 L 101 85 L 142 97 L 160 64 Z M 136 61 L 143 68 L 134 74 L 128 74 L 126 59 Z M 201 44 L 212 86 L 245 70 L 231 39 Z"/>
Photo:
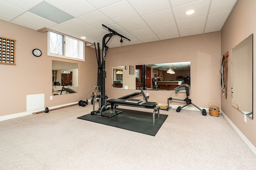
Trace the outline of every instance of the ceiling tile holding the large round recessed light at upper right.
<path fill-rule="evenodd" d="M 176 18 L 176 21 L 184 21 L 184 20 L 190 20 L 192 18 L 198 18 L 201 16 L 206 16 L 208 12 L 208 7 L 210 4 L 210 0 L 200 0 L 196 2 L 192 2 L 190 4 L 185 4 L 182 6 L 178 6 L 173 8 L 174 16 Z M 185 13 L 188 10 L 195 10 L 196 12 L 192 15 L 186 15 Z"/>

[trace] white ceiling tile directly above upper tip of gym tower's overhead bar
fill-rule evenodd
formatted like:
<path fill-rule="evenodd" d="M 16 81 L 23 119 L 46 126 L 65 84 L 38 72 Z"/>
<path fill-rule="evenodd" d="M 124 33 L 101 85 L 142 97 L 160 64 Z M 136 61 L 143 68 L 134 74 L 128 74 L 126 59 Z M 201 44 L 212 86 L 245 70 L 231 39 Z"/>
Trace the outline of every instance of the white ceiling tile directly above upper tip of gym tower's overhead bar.
<path fill-rule="evenodd" d="M 91 20 L 91 18 L 93 18 L 93 20 Z M 94 28 L 100 28 L 102 27 L 102 24 L 110 25 L 114 23 L 114 21 L 110 20 L 108 17 L 103 15 L 98 10 L 94 12 L 90 12 L 89 14 L 85 14 L 83 16 L 80 16 L 78 17 L 78 19 L 81 21 L 84 21 L 85 23 L 88 23 Z"/>

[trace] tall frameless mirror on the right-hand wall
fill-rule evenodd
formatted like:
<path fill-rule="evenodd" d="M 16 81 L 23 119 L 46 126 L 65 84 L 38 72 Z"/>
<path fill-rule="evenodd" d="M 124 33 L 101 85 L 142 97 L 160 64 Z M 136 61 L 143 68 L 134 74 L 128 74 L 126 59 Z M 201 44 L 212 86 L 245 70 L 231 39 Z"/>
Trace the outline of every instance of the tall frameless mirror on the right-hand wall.
<path fill-rule="evenodd" d="M 232 106 L 253 119 L 253 35 L 232 49 Z"/>

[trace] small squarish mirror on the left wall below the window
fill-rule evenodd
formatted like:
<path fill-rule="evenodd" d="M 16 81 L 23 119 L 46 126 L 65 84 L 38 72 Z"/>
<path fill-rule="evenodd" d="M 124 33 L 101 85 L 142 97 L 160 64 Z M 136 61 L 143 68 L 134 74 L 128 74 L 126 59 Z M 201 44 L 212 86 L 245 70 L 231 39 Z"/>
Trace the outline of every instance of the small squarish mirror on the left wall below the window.
<path fill-rule="evenodd" d="M 52 95 L 78 92 L 78 63 L 52 61 Z"/>

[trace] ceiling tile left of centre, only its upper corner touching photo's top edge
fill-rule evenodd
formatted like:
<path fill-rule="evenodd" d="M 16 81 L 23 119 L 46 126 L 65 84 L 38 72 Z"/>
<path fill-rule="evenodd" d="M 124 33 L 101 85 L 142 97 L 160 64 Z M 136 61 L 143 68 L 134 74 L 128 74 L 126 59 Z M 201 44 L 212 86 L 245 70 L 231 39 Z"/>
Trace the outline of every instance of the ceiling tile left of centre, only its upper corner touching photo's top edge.
<path fill-rule="evenodd" d="M 116 23 L 139 17 L 134 8 L 125 0 L 101 8 L 100 11 Z"/>

